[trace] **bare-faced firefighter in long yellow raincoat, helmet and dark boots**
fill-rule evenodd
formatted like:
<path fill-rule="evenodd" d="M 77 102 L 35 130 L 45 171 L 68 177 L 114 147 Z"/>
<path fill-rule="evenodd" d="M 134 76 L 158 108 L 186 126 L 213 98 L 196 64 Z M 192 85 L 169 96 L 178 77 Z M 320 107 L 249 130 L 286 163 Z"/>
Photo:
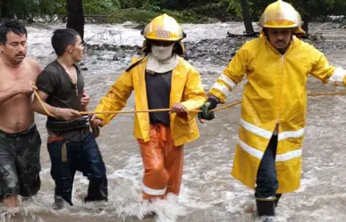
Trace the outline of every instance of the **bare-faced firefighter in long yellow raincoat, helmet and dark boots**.
<path fill-rule="evenodd" d="M 214 119 L 208 110 L 224 103 L 246 76 L 232 176 L 255 189 L 258 216 L 274 216 L 281 193 L 300 187 L 308 76 L 344 86 L 346 70 L 295 37 L 304 31 L 291 4 L 269 4 L 259 25 L 261 36 L 241 46 L 211 87 L 198 118 Z"/>

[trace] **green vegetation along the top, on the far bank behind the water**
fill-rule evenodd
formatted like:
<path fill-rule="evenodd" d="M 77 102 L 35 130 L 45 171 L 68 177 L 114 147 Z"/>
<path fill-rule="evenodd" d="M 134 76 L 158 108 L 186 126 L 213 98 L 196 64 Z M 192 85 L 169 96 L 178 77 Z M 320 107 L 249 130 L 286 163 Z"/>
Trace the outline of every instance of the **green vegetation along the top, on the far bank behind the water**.
<path fill-rule="evenodd" d="M 345 0 L 287 1 L 313 20 L 325 20 L 328 15 L 346 15 Z M 252 20 L 257 21 L 266 5 L 274 0 L 248 2 Z M 58 21 L 65 17 L 65 7 L 66 0 L 0 0 L 0 17 Z M 241 20 L 239 0 L 83 0 L 83 9 L 84 14 L 102 15 L 108 22 L 147 22 L 163 12 L 180 22 L 207 22 L 208 17 L 221 21 Z"/>

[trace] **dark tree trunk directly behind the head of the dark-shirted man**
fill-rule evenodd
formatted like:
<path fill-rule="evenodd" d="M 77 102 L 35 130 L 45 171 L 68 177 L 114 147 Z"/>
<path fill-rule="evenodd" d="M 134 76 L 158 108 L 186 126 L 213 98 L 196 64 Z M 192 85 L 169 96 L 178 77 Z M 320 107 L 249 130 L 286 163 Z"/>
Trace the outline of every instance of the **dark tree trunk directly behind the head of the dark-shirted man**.
<path fill-rule="evenodd" d="M 66 28 L 75 29 L 80 33 L 81 39 L 84 37 L 84 13 L 82 0 L 66 0 L 67 4 L 67 24 Z"/>

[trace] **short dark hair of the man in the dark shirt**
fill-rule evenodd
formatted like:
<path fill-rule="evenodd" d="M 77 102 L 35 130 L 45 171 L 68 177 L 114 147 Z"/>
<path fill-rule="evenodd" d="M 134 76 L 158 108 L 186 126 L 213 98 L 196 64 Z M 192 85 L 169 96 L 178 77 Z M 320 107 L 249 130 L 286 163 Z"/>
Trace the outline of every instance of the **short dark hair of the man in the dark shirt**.
<path fill-rule="evenodd" d="M 57 56 L 62 56 L 69 45 L 75 45 L 80 34 L 74 29 L 56 29 L 53 32 L 52 46 Z"/>

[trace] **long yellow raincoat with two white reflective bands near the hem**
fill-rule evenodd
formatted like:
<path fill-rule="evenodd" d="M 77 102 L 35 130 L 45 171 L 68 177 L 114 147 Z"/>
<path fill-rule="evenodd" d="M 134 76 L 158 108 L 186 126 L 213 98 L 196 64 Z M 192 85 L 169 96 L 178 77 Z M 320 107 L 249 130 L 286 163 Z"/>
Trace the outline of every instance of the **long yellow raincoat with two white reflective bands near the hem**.
<path fill-rule="evenodd" d="M 209 94 L 224 103 L 227 94 L 247 75 L 241 102 L 241 127 L 232 176 L 255 188 L 257 169 L 278 124 L 277 193 L 300 187 L 301 144 L 307 113 L 307 80 L 346 84 L 346 71 L 328 63 L 324 53 L 293 37 L 287 52 L 278 53 L 266 37 L 244 44 L 215 81 Z"/>

